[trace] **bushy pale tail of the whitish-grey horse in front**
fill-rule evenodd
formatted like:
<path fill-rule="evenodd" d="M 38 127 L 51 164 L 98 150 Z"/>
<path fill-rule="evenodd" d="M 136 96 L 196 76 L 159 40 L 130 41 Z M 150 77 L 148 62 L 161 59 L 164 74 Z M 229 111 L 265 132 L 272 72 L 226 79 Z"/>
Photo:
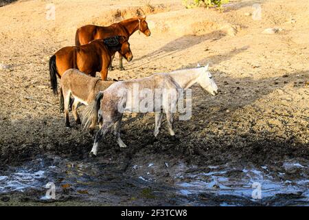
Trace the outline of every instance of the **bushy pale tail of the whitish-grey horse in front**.
<path fill-rule="evenodd" d="M 100 110 L 100 103 L 103 96 L 103 91 L 99 91 L 98 95 L 95 97 L 95 100 L 84 110 L 82 117 L 82 126 L 84 126 L 84 129 L 95 129 L 95 125 L 98 122 L 98 112 Z"/>

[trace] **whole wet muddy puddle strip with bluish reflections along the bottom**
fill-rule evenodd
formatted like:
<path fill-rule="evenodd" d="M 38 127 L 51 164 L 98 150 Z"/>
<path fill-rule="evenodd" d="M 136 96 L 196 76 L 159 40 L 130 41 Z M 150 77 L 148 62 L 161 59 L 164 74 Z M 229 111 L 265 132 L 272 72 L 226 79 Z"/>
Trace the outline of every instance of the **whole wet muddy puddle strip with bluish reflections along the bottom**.
<path fill-rule="evenodd" d="M 304 161 L 278 166 L 237 166 L 234 162 L 201 168 L 144 160 L 126 170 L 120 168 L 121 163 L 40 156 L 1 170 L 0 197 L 100 205 L 309 205 L 308 163 Z"/>

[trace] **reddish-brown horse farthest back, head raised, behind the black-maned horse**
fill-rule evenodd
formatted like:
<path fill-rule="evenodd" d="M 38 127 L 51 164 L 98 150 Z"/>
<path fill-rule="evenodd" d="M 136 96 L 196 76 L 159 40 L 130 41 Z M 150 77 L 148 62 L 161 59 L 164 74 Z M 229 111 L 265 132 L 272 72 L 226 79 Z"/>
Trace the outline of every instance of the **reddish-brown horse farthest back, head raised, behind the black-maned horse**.
<path fill-rule="evenodd" d="M 82 28 L 78 28 L 76 31 L 75 42 L 76 45 L 84 45 L 95 39 L 104 39 L 110 36 L 121 35 L 126 36 L 127 39 L 139 30 L 146 36 L 150 36 L 151 32 L 146 22 L 146 17 L 136 17 L 132 19 L 126 19 L 119 23 L 113 23 L 110 26 L 102 27 L 97 25 L 85 25 Z M 112 57 L 112 62 L 115 54 Z M 111 62 L 110 69 L 113 69 Z M 119 53 L 119 69 L 123 70 L 122 54 Z"/>

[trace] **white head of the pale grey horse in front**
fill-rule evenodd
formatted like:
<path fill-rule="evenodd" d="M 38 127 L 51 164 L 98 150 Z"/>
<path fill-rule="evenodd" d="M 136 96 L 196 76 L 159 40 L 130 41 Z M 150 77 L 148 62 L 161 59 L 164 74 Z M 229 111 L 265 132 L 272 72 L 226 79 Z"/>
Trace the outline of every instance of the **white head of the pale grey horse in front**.
<path fill-rule="evenodd" d="M 205 67 L 201 67 L 198 65 L 196 70 L 200 73 L 200 76 L 198 76 L 197 82 L 201 85 L 201 87 L 207 91 L 212 96 L 218 95 L 218 87 L 214 81 L 214 78 L 212 78 L 210 72 L 208 71 L 208 65 Z"/>

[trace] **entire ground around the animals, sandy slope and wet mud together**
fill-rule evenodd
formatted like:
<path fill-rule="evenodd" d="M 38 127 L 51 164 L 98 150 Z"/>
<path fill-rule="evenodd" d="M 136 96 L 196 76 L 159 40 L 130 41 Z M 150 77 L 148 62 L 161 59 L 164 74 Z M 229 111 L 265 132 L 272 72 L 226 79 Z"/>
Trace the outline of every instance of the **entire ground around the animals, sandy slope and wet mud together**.
<path fill-rule="evenodd" d="M 0 8 L 1 205 L 308 205 L 308 1 L 231 1 L 221 12 L 181 1 L 54 3 L 55 21 L 45 1 Z M 92 137 L 74 122 L 65 128 L 49 89 L 49 57 L 73 45 L 81 25 L 144 13 L 152 36 L 133 34 L 133 61 L 108 78 L 209 63 L 220 95 L 192 87 L 192 118 L 175 122 L 178 142 L 165 123 L 149 141 L 154 115 L 125 115 L 128 148 L 108 135 L 89 158 Z M 51 181 L 56 200 L 42 199 Z M 262 199 L 251 197 L 257 181 Z"/>

